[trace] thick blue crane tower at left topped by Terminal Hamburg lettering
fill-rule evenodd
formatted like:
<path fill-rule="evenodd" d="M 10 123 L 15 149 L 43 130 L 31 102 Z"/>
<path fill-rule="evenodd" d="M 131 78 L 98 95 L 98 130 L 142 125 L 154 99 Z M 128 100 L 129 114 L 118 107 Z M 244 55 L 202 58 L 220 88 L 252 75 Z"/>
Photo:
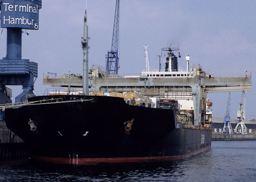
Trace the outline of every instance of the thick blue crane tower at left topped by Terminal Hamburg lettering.
<path fill-rule="evenodd" d="M 22 29 L 25 32 L 27 29 L 38 30 L 41 8 L 42 0 L 0 0 L 1 28 L 7 29 L 6 56 L 0 60 L 0 104 L 11 102 L 5 87 L 8 85 L 22 86 L 23 92 L 16 96 L 16 103 L 26 102 L 27 97 L 34 96 L 37 63 L 22 59 Z M 28 32 L 24 34 L 29 35 Z M 39 44 L 30 47 L 30 51 Z"/>

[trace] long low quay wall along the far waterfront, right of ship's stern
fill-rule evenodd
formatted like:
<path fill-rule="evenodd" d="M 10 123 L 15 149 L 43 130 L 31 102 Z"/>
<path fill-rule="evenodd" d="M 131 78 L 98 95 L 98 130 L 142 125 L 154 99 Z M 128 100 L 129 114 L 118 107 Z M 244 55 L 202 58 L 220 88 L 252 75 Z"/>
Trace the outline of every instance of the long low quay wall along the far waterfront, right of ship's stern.
<path fill-rule="evenodd" d="M 242 141 L 242 140 L 256 140 L 256 133 L 253 134 L 222 134 L 212 133 L 212 141 Z"/>

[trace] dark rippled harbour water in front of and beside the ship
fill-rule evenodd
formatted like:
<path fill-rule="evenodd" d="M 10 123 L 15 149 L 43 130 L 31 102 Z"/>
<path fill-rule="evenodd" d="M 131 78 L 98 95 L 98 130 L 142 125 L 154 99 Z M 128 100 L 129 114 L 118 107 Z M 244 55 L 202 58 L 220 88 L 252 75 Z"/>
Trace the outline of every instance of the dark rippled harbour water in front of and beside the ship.
<path fill-rule="evenodd" d="M 178 161 L 54 165 L 0 161 L 0 181 L 256 181 L 256 141 L 213 141 L 210 150 Z"/>

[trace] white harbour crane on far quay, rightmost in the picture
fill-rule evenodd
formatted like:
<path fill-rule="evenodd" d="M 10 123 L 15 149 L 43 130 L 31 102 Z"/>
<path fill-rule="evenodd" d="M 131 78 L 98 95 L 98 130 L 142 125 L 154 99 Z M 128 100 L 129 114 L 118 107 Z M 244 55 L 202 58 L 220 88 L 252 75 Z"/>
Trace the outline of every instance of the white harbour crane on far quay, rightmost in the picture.
<path fill-rule="evenodd" d="M 242 95 L 241 95 L 241 101 L 239 103 L 239 109 L 237 110 L 237 119 L 238 119 L 238 123 L 236 126 L 236 132 L 241 133 L 241 134 L 247 134 L 247 128 L 244 124 L 244 120 L 245 120 L 245 91 L 242 91 Z"/>

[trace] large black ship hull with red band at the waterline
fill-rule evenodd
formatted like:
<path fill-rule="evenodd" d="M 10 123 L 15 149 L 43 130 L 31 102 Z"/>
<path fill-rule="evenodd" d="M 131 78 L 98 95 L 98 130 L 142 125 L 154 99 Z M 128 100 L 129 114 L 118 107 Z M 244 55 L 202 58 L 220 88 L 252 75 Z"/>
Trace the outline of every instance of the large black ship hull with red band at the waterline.
<path fill-rule="evenodd" d="M 109 96 L 53 95 L 29 101 L 36 100 L 43 101 L 6 109 L 5 121 L 41 161 L 80 165 L 173 160 L 211 147 L 210 130 L 184 128 L 172 109 L 132 106 Z M 128 131 L 127 121 L 132 121 Z"/>

